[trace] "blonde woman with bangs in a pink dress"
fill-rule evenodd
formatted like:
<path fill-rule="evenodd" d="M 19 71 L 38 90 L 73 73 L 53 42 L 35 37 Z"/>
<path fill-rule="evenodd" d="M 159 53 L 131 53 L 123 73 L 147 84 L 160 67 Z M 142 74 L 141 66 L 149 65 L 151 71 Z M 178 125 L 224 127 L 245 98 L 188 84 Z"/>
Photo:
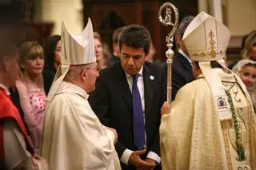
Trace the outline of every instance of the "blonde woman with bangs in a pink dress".
<path fill-rule="evenodd" d="M 28 125 L 35 151 L 39 151 L 45 114 L 46 93 L 43 89 L 42 69 L 44 53 L 37 42 L 25 42 L 20 46 L 21 72 L 16 82 L 24 120 Z"/>

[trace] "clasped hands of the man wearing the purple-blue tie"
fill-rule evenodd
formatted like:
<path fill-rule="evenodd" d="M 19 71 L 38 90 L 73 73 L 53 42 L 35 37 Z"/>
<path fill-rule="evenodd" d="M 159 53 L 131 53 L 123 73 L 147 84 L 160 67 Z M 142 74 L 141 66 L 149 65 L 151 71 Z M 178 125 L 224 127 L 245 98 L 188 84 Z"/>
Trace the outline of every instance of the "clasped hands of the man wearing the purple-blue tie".
<path fill-rule="evenodd" d="M 156 166 L 155 162 L 152 163 L 152 161 L 149 160 L 147 162 L 146 160 L 142 160 L 140 156 L 144 154 L 146 150 L 140 150 L 140 151 L 134 151 L 131 153 L 130 158 L 128 160 L 129 164 L 134 165 L 136 169 L 139 170 L 152 170 Z"/>

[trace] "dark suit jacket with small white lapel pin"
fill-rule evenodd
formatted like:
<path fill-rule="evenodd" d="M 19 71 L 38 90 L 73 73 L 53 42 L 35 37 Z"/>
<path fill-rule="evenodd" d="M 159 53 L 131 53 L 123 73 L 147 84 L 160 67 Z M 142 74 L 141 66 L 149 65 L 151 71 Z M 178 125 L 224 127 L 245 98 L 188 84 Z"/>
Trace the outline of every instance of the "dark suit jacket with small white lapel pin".
<path fill-rule="evenodd" d="M 152 76 L 154 80 L 151 80 Z M 146 62 L 143 67 L 145 91 L 145 121 L 147 152 L 160 156 L 159 125 L 162 103 L 166 101 L 166 77 L 159 65 Z M 137 150 L 133 143 L 132 96 L 126 74 L 120 62 L 102 69 L 96 81 L 96 89 L 90 93 L 89 102 L 103 125 L 115 128 L 118 143 L 115 148 L 121 157 L 126 148 Z M 146 152 L 146 154 L 147 154 Z M 122 164 L 122 169 L 134 169 Z"/>

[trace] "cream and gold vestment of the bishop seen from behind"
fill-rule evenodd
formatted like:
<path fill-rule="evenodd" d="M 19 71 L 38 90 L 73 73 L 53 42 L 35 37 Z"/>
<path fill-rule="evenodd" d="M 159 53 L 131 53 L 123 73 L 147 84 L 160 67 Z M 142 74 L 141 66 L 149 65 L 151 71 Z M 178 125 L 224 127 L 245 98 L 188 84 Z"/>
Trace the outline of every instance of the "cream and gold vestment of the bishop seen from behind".
<path fill-rule="evenodd" d="M 237 160 L 234 121 L 219 120 L 210 87 L 204 77 L 199 77 L 178 91 L 171 112 L 162 116 L 163 170 L 256 169 L 256 117 L 252 105 L 234 73 L 217 71 L 225 89 L 231 88 L 246 160 Z"/>

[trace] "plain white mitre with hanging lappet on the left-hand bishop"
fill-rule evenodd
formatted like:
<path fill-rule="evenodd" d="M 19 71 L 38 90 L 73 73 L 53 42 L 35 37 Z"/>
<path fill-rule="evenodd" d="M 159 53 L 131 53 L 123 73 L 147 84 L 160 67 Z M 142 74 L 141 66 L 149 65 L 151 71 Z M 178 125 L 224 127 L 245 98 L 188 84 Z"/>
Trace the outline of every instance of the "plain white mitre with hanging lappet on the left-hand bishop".
<path fill-rule="evenodd" d="M 62 22 L 62 57 L 61 65 L 55 74 L 54 82 L 50 87 L 50 92 L 47 96 L 47 101 L 51 101 L 62 84 L 66 73 L 70 69 L 70 65 L 84 65 L 96 62 L 94 51 L 94 30 L 90 18 L 86 28 L 81 35 L 70 34 L 66 30 L 66 26 Z"/>

